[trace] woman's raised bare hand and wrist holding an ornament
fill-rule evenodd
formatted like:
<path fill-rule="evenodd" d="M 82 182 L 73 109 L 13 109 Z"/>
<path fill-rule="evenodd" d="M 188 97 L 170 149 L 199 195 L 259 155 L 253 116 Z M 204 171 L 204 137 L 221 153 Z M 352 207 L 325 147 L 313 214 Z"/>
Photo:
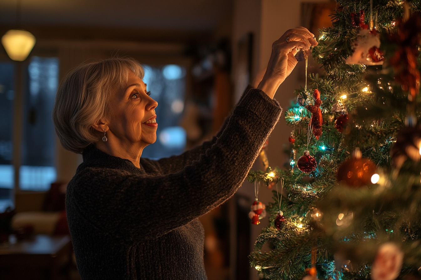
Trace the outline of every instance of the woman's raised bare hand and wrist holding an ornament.
<path fill-rule="evenodd" d="M 286 31 L 272 44 L 272 53 L 266 73 L 257 88 L 273 98 L 280 84 L 297 65 L 297 60 L 294 57 L 297 53 L 296 48 L 309 50 L 311 46 L 317 46 L 317 41 L 314 39 L 314 34 L 306 28 L 297 27 Z"/>

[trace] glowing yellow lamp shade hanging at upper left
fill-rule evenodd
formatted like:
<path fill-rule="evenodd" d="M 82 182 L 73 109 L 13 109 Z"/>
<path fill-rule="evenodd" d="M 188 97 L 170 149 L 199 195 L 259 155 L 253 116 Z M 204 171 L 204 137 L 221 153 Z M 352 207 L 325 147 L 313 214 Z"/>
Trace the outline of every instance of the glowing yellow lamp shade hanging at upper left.
<path fill-rule="evenodd" d="M 35 37 L 28 31 L 11 29 L 3 35 L 1 42 L 9 58 L 24 61 L 35 45 Z"/>

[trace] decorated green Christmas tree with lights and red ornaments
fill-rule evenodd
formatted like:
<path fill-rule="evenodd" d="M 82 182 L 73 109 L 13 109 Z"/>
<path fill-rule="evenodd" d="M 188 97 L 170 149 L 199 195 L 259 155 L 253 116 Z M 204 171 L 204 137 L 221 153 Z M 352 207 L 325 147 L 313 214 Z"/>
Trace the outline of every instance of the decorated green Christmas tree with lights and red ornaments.
<path fill-rule="evenodd" d="M 285 113 L 288 168 L 250 171 L 265 279 L 421 279 L 420 0 L 339 0 Z M 264 150 L 262 151 L 264 155 Z M 274 201 L 258 202 L 272 186 Z M 261 252 L 267 243 L 269 252 Z"/>

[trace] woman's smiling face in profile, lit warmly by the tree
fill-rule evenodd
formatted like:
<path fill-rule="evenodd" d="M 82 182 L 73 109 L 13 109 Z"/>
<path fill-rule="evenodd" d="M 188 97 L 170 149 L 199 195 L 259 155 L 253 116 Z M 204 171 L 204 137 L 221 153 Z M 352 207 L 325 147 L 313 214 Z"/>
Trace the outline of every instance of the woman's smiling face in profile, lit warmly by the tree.
<path fill-rule="evenodd" d="M 108 121 L 109 132 L 122 143 L 155 143 L 158 124 L 155 108 L 158 102 L 149 97 L 146 84 L 129 71 L 124 88 L 111 97 L 113 118 Z"/>

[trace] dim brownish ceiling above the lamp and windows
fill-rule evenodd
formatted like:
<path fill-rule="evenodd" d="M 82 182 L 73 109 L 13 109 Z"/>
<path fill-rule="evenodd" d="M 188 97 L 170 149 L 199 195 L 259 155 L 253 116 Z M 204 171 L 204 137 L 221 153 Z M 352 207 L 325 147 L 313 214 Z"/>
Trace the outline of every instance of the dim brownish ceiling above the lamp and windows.
<path fill-rule="evenodd" d="M 16 24 L 19 0 L 0 1 L 0 24 Z M 232 0 L 20 0 L 28 25 L 83 25 L 210 31 L 232 9 Z"/>

